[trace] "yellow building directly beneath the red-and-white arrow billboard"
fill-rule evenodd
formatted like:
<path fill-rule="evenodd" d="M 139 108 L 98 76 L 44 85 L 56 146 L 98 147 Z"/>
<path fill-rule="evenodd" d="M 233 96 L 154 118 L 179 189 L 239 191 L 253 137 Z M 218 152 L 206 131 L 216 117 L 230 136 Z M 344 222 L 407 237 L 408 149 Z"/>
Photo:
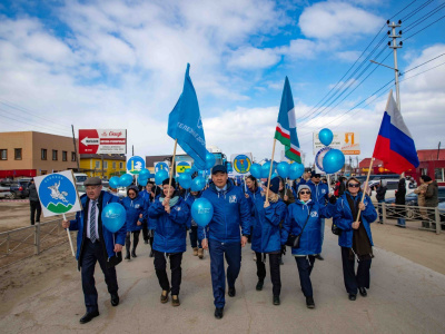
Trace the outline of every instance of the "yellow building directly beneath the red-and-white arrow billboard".
<path fill-rule="evenodd" d="M 126 174 L 126 165 L 123 155 L 80 155 L 80 171 L 88 176 L 109 179 Z"/>

